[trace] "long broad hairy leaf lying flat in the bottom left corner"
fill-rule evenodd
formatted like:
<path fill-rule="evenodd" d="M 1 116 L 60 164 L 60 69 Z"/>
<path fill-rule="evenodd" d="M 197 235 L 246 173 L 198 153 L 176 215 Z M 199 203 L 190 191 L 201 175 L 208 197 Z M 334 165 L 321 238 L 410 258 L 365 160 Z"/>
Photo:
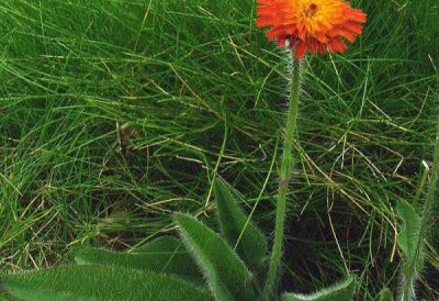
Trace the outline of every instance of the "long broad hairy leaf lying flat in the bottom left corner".
<path fill-rule="evenodd" d="M 10 274 L 0 283 L 23 301 L 212 300 L 205 290 L 177 277 L 104 266 Z"/>

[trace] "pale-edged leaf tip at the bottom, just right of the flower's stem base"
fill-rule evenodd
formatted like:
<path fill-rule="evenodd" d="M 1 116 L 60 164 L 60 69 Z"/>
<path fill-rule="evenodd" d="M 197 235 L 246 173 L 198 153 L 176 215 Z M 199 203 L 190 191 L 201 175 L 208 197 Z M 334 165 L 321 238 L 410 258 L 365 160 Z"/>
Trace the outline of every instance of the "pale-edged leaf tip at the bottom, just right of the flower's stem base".
<path fill-rule="evenodd" d="M 333 287 L 323 289 L 312 294 L 302 293 L 284 293 L 282 301 L 351 301 L 356 292 L 356 279 L 349 277 L 347 280 L 337 283 Z"/>

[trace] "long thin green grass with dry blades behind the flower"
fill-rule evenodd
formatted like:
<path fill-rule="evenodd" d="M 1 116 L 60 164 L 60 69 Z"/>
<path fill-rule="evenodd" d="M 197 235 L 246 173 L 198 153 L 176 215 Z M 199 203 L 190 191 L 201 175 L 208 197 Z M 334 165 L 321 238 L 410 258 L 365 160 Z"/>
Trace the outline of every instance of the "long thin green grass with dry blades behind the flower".
<path fill-rule="evenodd" d="M 285 289 L 348 271 L 358 300 L 395 289 L 395 201 L 415 196 L 438 115 L 439 8 L 418 2 L 352 1 L 369 14 L 363 36 L 305 64 Z M 241 0 L 0 3 L 1 271 L 68 263 L 81 244 L 134 247 L 172 231 L 176 211 L 211 215 L 215 172 L 248 209 L 261 196 L 255 220 L 270 234 L 289 69 L 254 10 Z M 439 298 L 432 228 L 427 300 Z"/>

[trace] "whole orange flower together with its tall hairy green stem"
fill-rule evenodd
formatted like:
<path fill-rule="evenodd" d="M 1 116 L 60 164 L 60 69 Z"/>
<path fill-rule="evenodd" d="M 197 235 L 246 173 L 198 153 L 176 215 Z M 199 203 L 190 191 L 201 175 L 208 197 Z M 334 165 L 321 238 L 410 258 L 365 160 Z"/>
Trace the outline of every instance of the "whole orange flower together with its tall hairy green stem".
<path fill-rule="evenodd" d="M 263 289 L 264 300 L 273 300 L 281 265 L 288 185 L 294 163 L 292 146 L 297 118 L 301 60 L 306 53 L 316 55 L 345 52 L 348 48 L 346 42 L 354 42 L 362 33 L 367 15 L 361 10 L 352 9 L 344 0 L 257 0 L 257 25 L 269 27 L 266 32 L 267 38 L 277 41 L 281 47 L 289 47 L 293 59 L 274 242 Z"/>

